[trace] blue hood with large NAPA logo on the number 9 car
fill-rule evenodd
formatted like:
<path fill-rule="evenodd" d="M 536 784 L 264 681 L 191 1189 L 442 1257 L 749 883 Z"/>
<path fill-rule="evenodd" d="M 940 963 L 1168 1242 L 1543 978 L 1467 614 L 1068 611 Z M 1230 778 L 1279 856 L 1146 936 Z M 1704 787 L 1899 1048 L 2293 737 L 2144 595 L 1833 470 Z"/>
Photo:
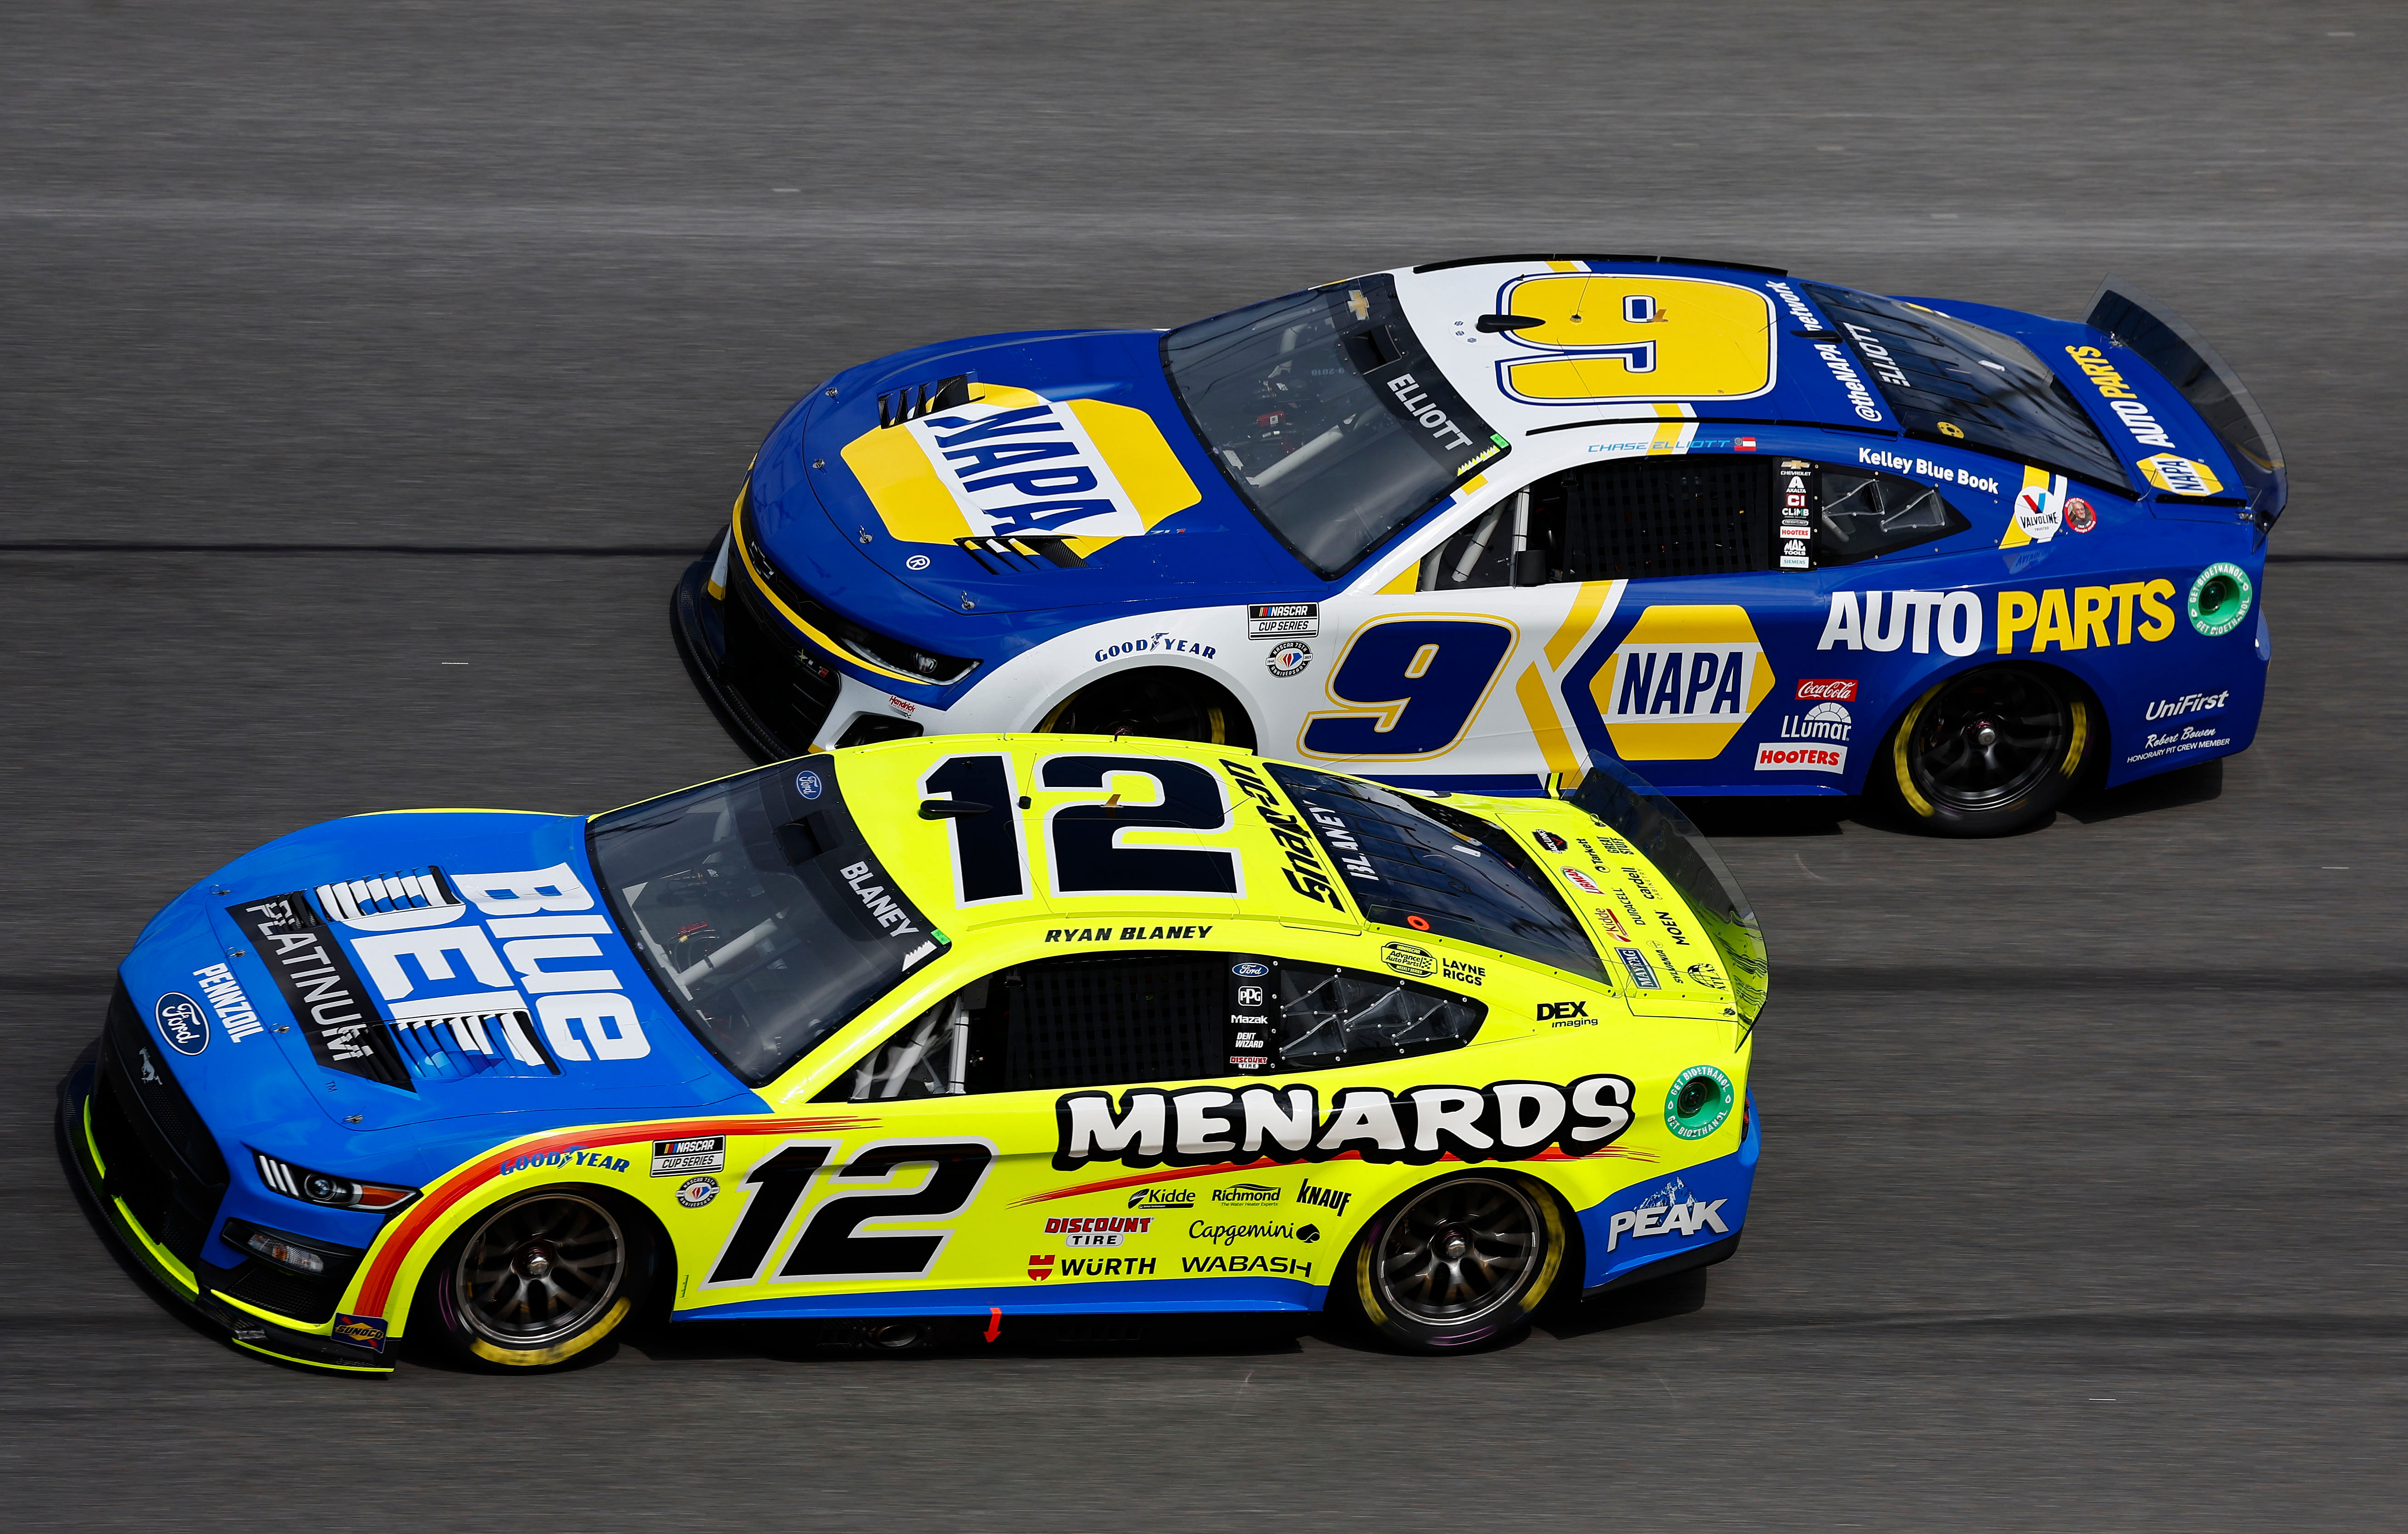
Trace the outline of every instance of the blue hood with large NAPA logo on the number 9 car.
<path fill-rule="evenodd" d="M 958 643 L 978 614 L 1320 588 L 1204 453 L 1153 330 L 980 337 L 840 373 L 763 443 L 751 508 L 814 597 L 898 638 L 934 638 L 939 612 Z"/>

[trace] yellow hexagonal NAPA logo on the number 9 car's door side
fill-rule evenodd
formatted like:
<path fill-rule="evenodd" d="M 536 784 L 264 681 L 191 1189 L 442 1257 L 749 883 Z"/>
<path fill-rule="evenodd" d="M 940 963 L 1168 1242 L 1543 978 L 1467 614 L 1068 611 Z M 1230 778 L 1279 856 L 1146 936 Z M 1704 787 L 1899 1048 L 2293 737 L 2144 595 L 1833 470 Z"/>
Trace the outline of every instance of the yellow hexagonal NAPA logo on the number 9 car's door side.
<path fill-rule="evenodd" d="M 1719 756 L 1772 694 L 1746 607 L 1649 607 L 1589 682 L 1616 756 Z"/>

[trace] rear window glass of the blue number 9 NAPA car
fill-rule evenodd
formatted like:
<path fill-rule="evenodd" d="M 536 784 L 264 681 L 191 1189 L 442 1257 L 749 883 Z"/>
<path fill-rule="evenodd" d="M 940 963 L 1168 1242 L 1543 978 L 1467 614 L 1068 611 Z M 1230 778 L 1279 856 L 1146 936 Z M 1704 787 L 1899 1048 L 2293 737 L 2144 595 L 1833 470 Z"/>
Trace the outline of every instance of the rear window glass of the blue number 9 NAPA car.
<path fill-rule="evenodd" d="M 1922 303 L 1806 284 L 1912 436 L 1989 448 L 2107 489 L 2131 477 L 2030 347 Z"/>

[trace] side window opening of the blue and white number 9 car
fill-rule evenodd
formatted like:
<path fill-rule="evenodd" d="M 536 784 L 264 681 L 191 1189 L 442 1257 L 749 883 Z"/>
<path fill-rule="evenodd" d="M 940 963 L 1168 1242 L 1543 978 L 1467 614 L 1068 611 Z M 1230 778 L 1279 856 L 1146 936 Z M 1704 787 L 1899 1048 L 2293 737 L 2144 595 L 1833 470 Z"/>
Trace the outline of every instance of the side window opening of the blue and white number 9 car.
<path fill-rule="evenodd" d="M 1801 458 L 1618 460 L 1498 501 L 1421 561 L 1418 588 L 1811 571 L 1970 525 L 1936 489 L 1900 474 Z"/>

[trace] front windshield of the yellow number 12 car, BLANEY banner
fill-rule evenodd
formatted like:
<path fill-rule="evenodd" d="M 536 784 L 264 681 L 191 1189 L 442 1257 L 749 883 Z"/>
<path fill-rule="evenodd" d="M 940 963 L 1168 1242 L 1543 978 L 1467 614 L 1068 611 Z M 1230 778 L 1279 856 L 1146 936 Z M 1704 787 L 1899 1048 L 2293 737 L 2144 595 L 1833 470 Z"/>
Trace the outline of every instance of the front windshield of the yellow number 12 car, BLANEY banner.
<path fill-rule="evenodd" d="M 686 1026 L 761 1086 L 939 956 L 826 756 L 597 816 L 595 869 Z"/>

